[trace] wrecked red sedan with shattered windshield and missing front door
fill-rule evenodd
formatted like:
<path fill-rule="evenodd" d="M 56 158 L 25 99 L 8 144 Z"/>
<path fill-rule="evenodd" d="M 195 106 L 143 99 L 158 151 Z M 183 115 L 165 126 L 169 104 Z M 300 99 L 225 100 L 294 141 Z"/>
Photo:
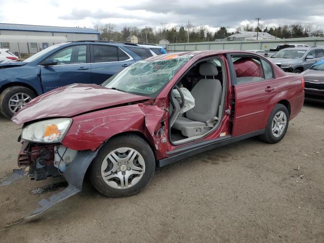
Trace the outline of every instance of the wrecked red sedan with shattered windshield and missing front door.
<path fill-rule="evenodd" d="M 280 141 L 301 110 L 304 80 L 240 51 L 165 54 L 125 68 L 101 86 L 73 84 L 15 114 L 18 166 L 29 177 L 64 176 L 42 213 L 79 192 L 88 172 L 106 196 L 130 196 L 155 167 L 242 139 Z"/>

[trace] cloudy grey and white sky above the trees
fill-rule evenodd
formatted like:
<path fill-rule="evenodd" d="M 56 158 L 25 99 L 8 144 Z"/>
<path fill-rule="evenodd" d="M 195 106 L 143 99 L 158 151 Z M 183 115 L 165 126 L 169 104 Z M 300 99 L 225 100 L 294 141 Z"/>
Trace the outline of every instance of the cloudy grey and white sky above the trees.
<path fill-rule="evenodd" d="M 312 24 L 324 28 L 324 0 L 0 0 L 0 23 L 93 27 L 113 23 L 152 28 L 185 25 L 220 26 Z"/>

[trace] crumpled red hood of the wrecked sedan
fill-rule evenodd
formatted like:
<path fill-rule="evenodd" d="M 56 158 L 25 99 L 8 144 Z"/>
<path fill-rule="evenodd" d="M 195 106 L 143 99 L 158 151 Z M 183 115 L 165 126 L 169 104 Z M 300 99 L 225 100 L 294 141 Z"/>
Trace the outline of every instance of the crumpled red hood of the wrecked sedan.
<path fill-rule="evenodd" d="M 151 98 L 107 89 L 99 85 L 73 84 L 36 97 L 17 112 L 12 120 L 22 125 L 31 120 L 71 117 L 97 109 L 148 99 Z"/>

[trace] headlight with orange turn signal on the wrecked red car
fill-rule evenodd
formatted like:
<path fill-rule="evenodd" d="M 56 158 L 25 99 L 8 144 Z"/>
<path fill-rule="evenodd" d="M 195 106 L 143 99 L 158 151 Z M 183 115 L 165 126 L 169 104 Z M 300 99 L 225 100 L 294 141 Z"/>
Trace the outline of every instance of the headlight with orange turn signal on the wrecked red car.
<path fill-rule="evenodd" d="M 22 130 L 23 140 L 43 143 L 59 143 L 72 124 L 71 118 L 38 121 Z"/>

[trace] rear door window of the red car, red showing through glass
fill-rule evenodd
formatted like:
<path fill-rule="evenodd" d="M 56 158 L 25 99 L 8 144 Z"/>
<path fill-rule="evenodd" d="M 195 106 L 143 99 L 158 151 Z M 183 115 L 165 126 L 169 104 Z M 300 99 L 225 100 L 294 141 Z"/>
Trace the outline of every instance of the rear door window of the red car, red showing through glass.
<path fill-rule="evenodd" d="M 232 56 L 236 74 L 236 85 L 255 83 L 264 80 L 261 60 L 257 57 Z"/>

